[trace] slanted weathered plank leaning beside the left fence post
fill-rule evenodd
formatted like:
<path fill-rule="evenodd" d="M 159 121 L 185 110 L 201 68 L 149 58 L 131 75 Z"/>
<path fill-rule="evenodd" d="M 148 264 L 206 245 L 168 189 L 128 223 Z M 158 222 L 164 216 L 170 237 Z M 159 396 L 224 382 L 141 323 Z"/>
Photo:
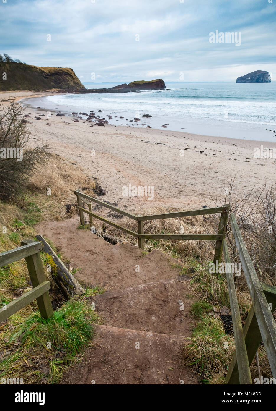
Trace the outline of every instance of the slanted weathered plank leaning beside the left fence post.
<path fill-rule="evenodd" d="M 65 286 L 68 296 L 72 296 L 73 294 L 77 294 L 78 296 L 82 296 L 85 293 L 82 286 L 78 283 L 75 277 L 71 274 L 71 272 L 64 266 L 64 263 L 59 259 L 57 254 L 54 252 L 52 247 L 46 242 L 45 238 L 43 238 L 40 234 L 36 235 L 37 240 L 41 241 L 43 244 L 43 249 L 46 253 L 48 253 L 54 263 L 57 266 L 57 276 Z"/>

